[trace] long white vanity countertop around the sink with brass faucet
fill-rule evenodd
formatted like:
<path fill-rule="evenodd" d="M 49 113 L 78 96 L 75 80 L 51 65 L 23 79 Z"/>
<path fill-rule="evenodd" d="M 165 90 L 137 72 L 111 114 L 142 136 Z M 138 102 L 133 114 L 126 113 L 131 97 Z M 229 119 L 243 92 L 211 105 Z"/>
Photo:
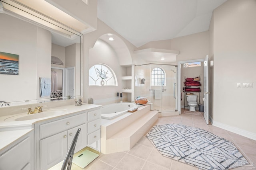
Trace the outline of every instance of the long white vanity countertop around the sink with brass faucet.
<path fill-rule="evenodd" d="M 18 113 L 13 115 L 1 116 L 0 117 L 0 150 L 4 149 L 6 146 L 10 145 L 14 141 L 18 140 L 20 137 L 32 131 L 33 130 L 32 127 L 34 123 L 38 121 L 53 119 L 56 117 L 78 113 L 80 111 L 84 111 L 88 109 L 96 109 L 99 107 L 101 107 L 101 105 L 95 105 L 95 104 L 83 104 L 82 106 L 74 106 L 73 104 L 68 106 L 60 106 L 60 107 L 52 107 L 52 108 L 45 107 L 43 108 L 43 112 L 41 113 L 44 113 L 44 111 L 47 112 L 48 110 L 53 110 L 53 109 L 65 109 L 65 110 L 60 113 L 56 113 L 54 115 L 50 115 L 47 117 L 25 120 L 25 121 L 15 121 L 14 119 L 18 117 L 28 116 L 28 114 L 26 113 Z M 34 114 L 40 114 L 40 113 L 34 113 Z"/>

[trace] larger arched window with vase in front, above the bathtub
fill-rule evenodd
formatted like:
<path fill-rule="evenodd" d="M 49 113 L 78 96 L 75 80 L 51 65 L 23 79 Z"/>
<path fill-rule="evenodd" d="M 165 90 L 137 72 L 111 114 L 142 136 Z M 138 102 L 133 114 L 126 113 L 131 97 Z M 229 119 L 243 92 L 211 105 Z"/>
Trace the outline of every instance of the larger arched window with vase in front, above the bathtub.
<path fill-rule="evenodd" d="M 117 86 L 114 71 L 105 64 L 96 64 L 89 70 L 89 86 Z"/>

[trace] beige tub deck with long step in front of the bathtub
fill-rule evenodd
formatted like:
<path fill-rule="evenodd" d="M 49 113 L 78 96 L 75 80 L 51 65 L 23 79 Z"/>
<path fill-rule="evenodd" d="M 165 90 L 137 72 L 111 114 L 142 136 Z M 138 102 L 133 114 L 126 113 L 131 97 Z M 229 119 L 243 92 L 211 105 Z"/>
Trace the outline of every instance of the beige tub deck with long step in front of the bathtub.
<path fill-rule="evenodd" d="M 110 154 L 130 150 L 157 119 L 158 111 L 150 111 L 150 105 L 112 120 L 102 119 L 101 152 Z"/>

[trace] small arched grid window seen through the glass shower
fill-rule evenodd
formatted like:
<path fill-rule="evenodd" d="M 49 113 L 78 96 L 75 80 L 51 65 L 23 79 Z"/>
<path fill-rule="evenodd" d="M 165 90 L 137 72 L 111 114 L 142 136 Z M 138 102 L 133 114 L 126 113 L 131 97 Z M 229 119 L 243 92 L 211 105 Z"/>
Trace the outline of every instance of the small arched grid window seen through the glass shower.
<path fill-rule="evenodd" d="M 160 67 L 156 67 L 151 72 L 151 86 L 164 86 L 165 83 L 165 73 Z"/>

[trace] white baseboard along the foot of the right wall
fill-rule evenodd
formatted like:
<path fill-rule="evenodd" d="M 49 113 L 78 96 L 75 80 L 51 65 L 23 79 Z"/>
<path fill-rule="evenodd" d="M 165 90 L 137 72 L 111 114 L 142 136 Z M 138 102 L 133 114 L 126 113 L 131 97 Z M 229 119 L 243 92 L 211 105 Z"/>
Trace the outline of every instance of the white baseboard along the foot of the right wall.
<path fill-rule="evenodd" d="M 239 128 L 237 128 L 237 127 L 232 127 L 232 126 L 229 126 L 229 125 L 226 125 L 226 124 L 217 122 L 217 121 L 213 121 L 213 122 L 212 122 L 212 125 L 213 125 L 213 126 L 216 126 L 216 127 L 220 127 L 220 128 L 225 129 L 225 130 L 227 130 L 227 131 L 236 133 L 236 134 L 238 134 L 238 135 L 242 135 L 242 136 L 244 136 L 244 137 L 248 137 L 248 138 L 250 138 L 250 139 L 256 140 L 256 133 L 252 133 L 252 132 L 249 132 L 249 131 L 245 131 L 245 130 L 243 130 L 243 129 L 239 129 Z"/>

